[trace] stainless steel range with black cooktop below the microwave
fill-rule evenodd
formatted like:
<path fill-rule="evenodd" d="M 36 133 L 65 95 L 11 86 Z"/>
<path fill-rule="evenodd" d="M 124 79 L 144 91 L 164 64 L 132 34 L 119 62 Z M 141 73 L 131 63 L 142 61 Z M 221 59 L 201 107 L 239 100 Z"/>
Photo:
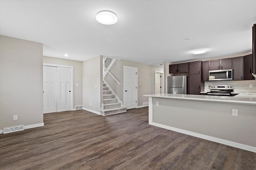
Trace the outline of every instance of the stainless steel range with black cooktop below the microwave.
<path fill-rule="evenodd" d="M 234 92 L 232 85 L 217 85 L 211 86 L 211 91 L 207 92 L 207 95 L 213 96 L 232 96 L 231 92 Z"/>

